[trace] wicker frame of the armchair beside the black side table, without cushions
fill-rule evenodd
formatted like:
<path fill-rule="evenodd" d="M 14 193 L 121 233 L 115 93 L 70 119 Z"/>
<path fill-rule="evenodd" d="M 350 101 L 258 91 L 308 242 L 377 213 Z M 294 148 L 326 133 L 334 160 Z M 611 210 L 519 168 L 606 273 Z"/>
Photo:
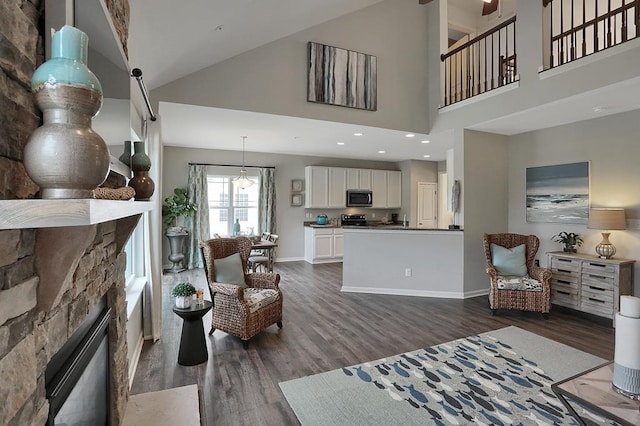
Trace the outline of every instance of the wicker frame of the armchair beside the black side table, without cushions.
<path fill-rule="evenodd" d="M 248 288 L 272 289 L 277 295 L 275 300 L 266 306 L 251 312 L 251 303 L 247 300 L 247 289 L 234 284 L 215 281 L 216 259 L 222 259 L 234 253 L 240 253 L 242 271 L 247 270 L 247 259 L 251 252 L 251 240 L 246 237 L 214 238 L 200 243 L 204 259 L 204 270 L 211 291 L 213 314 L 211 331 L 218 329 L 242 339 L 246 348 L 248 340 L 265 328 L 277 324 L 282 328 L 282 292 L 278 284 L 280 275 L 274 273 L 244 274 Z M 273 295 L 273 293 L 272 293 Z"/>

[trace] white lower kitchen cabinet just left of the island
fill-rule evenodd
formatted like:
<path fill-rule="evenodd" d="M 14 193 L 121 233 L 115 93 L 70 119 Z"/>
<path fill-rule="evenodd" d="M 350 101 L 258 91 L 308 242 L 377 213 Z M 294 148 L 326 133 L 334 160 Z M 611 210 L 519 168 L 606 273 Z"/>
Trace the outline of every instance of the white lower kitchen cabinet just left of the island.
<path fill-rule="evenodd" d="M 314 264 L 342 262 L 343 242 L 342 228 L 305 227 L 304 260 Z"/>

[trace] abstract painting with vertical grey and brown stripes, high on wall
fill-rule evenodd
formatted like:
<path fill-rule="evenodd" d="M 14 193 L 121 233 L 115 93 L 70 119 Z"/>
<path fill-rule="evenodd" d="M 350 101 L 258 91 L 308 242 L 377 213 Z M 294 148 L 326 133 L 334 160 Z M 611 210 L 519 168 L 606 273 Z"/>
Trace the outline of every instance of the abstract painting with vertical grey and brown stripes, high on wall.
<path fill-rule="evenodd" d="M 377 58 L 309 42 L 307 100 L 375 111 Z"/>

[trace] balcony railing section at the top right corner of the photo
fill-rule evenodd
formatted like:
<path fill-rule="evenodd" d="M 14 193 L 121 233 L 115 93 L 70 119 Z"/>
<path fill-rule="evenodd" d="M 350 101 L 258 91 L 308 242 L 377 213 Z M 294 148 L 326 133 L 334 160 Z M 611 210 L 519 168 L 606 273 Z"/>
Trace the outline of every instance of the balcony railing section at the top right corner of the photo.
<path fill-rule="evenodd" d="M 549 68 L 640 35 L 640 0 L 549 0 Z"/>

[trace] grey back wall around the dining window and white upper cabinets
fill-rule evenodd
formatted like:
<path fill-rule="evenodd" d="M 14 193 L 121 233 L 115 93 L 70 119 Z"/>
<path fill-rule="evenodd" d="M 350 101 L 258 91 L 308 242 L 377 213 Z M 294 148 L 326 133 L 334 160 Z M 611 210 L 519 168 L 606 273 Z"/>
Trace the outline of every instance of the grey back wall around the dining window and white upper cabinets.
<path fill-rule="evenodd" d="M 164 147 L 162 198 L 173 192 L 174 188 L 186 187 L 189 162 L 213 163 L 213 164 L 238 164 L 239 153 L 237 151 L 217 151 L 207 149 Z M 422 167 L 436 169 L 437 163 L 418 161 L 424 163 Z M 324 157 L 305 157 L 295 155 L 279 155 L 267 153 L 247 153 L 246 164 L 248 166 L 274 166 L 276 168 L 277 189 L 277 222 L 279 247 L 278 260 L 299 260 L 304 254 L 303 224 L 310 220 L 305 217 L 305 212 L 313 218 L 319 213 L 325 213 L 330 217 L 338 217 L 341 213 L 366 213 L 369 219 L 382 218 L 385 214 L 395 210 L 382 209 L 305 209 L 304 207 L 291 207 L 291 180 L 304 179 L 305 166 L 333 166 L 333 167 L 359 167 L 370 169 L 400 170 L 396 163 L 382 161 L 359 161 Z M 403 187 L 407 184 L 403 174 Z M 412 179 L 412 178 L 410 178 Z M 435 181 L 435 180 L 434 180 Z M 409 184 L 410 187 L 410 184 Z M 389 215 L 390 217 L 390 215 Z M 168 247 L 165 242 L 163 261 L 166 262 Z"/>

